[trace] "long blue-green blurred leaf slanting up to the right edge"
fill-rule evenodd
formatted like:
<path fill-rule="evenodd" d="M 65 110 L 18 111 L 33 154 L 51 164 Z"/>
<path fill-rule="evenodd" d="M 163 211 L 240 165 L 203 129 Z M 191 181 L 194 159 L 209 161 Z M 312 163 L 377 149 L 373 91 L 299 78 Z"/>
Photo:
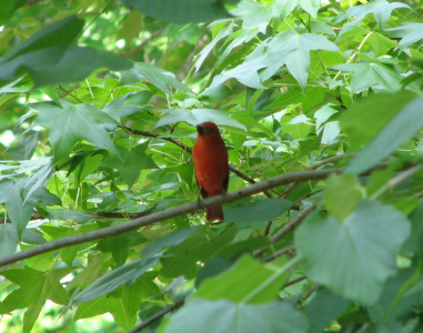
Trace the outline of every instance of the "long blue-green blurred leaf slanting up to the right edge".
<path fill-rule="evenodd" d="M 386 158 L 423 127 L 421 105 L 423 97 L 419 97 L 403 108 L 379 133 L 364 147 L 346 168 L 346 172 L 356 174 L 369 170 Z"/>

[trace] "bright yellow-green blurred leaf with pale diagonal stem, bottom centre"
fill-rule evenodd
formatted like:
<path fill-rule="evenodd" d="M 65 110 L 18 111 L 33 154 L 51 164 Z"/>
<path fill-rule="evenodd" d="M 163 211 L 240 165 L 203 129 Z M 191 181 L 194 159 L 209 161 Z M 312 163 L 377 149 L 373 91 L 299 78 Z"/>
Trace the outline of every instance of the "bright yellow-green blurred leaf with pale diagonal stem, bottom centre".
<path fill-rule="evenodd" d="M 222 274 L 203 281 L 194 297 L 209 301 L 224 299 L 239 303 L 271 302 L 278 300 L 290 266 L 292 263 L 285 260 L 264 265 L 250 255 L 243 255 Z"/>

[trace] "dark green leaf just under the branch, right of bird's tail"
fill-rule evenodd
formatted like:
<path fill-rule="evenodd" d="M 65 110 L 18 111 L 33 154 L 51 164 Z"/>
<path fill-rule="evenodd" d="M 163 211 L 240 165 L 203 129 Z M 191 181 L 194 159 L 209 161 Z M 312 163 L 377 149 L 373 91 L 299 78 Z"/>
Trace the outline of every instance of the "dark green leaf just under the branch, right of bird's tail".
<path fill-rule="evenodd" d="M 239 228 L 259 226 L 282 214 L 292 205 L 283 199 L 264 199 L 253 204 L 232 205 L 224 210 L 225 222 L 233 222 Z"/>

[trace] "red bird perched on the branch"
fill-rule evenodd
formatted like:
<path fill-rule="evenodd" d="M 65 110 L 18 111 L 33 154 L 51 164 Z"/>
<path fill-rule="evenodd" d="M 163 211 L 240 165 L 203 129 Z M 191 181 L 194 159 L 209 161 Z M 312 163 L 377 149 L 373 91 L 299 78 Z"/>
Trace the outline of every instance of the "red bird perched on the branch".
<path fill-rule="evenodd" d="M 194 173 L 201 195 L 205 198 L 225 193 L 229 182 L 228 151 L 218 127 L 203 122 L 197 127 L 199 135 L 192 150 Z M 208 208 L 205 219 L 223 220 L 222 205 Z"/>

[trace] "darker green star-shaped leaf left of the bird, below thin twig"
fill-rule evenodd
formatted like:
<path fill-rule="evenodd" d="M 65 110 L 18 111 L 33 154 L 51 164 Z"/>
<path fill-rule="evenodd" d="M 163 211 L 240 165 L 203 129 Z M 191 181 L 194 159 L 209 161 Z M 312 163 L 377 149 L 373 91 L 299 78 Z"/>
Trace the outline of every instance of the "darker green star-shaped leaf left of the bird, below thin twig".
<path fill-rule="evenodd" d="M 131 150 L 118 148 L 120 159 L 114 155 L 108 157 L 100 167 L 118 169 L 123 181 L 132 186 L 143 169 L 159 168 L 154 161 L 145 154 L 147 144 L 140 144 Z"/>

